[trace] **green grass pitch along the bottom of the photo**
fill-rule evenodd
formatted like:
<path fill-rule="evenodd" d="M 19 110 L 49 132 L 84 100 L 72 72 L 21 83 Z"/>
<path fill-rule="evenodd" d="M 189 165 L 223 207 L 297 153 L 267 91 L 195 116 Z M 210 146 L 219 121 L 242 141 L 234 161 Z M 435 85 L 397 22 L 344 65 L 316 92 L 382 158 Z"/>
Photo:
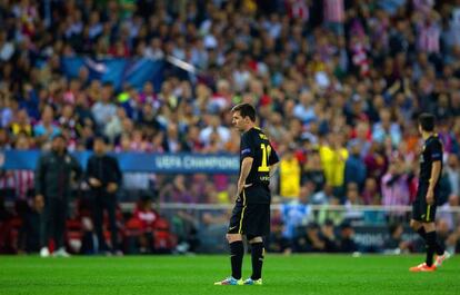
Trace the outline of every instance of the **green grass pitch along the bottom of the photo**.
<path fill-rule="evenodd" d="M 418 256 L 267 255 L 263 286 L 213 286 L 228 256 L 0 256 L 0 294 L 460 294 L 460 257 L 410 273 Z M 251 272 L 244 257 L 243 278 Z"/>

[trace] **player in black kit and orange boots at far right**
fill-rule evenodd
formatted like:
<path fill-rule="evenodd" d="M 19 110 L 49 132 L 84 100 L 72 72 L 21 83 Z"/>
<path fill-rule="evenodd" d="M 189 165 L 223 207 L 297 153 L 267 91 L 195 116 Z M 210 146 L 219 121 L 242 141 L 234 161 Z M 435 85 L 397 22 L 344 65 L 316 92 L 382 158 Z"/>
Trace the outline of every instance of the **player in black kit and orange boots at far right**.
<path fill-rule="evenodd" d="M 412 219 L 410 226 L 419 233 L 427 244 L 427 259 L 424 263 L 409 268 L 411 272 L 433 272 L 449 257 L 436 236 L 436 208 L 439 196 L 439 179 L 442 173 L 442 144 L 434 134 L 434 116 L 421 114 L 419 131 L 424 139 L 420 155 L 420 176 L 417 198 L 412 204 Z M 433 254 L 437 254 L 433 262 Z"/>

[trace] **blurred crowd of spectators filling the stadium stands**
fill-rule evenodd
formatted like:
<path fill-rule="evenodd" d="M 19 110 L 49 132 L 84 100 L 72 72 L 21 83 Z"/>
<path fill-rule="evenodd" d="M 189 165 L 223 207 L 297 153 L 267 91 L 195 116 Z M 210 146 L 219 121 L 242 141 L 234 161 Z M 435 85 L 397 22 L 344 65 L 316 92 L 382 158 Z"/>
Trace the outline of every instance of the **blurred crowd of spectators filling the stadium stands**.
<path fill-rule="evenodd" d="M 346 232 L 343 219 L 389 218 L 353 205 L 411 203 L 417 116 L 430 111 L 444 144 L 440 203 L 459 206 L 458 0 L 3 0 L 0 24 L 0 150 L 47 150 L 61 134 L 69 150 L 92 149 L 93 138 L 104 136 L 114 153 L 236 153 L 229 109 L 247 101 L 282 155 L 273 184 L 284 206 L 273 222 L 284 245 L 278 246 L 290 248 L 284 239 L 299 239 L 290 227 L 303 225 L 309 246 L 294 244 L 307 250 L 327 247 L 313 237 L 320 225 Z M 86 68 L 66 76 L 61 58 L 74 56 L 172 56 L 197 71 L 168 63 L 160 88 L 146 81 L 117 89 L 91 80 Z M 1 171 L 2 197 L 28 199 L 33 177 Z M 163 203 L 230 201 L 232 177 L 192 177 L 127 173 L 120 198 L 154 189 Z M 340 220 L 317 216 L 317 225 L 306 217 L 308 205 L 334 204 L 350 208 Z M 460 217 L 441 217 L 454 247 Z"/>

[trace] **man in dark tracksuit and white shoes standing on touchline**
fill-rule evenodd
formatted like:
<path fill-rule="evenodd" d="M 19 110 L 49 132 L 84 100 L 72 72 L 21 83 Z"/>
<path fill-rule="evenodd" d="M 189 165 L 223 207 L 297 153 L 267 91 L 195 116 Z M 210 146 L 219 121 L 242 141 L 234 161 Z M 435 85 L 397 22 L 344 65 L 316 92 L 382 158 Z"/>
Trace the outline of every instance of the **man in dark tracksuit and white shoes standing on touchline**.
<path fill-rule="evenodd" d="M 62 135 L 52 139 L 51 153 L 41 155 L 36 170 L 36 201 L 44 204 L 41 218 L 40 255 L 50 255 L 48 243 L 54 240 L 56 256 L 69 256 L 63 248 L 66 218 L 72 178 L 82 175 L 80 164 L 67 153 L 67 140 Z"/>

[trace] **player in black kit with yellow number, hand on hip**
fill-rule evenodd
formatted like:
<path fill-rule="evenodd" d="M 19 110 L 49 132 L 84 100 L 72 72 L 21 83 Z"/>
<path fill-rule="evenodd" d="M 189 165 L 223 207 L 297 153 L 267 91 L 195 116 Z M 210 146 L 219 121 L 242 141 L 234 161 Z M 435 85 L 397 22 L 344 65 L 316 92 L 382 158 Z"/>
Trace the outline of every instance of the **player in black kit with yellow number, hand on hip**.
<path fill-rule="evenodd" d="M 267 136 L 256 127 L 256 110 L 251 105 L 237 105 L 231 112 L 232 124 L 242 134 L 238 191 L 227 233 L 231 276 L 214 285 L 262 285 L 262 237 L 270 233 L 269 183 L 279 159 Z M 251 245 L 252 259 L 252 275 L 246 281 L 241 278 L 243 236 Z"/>

